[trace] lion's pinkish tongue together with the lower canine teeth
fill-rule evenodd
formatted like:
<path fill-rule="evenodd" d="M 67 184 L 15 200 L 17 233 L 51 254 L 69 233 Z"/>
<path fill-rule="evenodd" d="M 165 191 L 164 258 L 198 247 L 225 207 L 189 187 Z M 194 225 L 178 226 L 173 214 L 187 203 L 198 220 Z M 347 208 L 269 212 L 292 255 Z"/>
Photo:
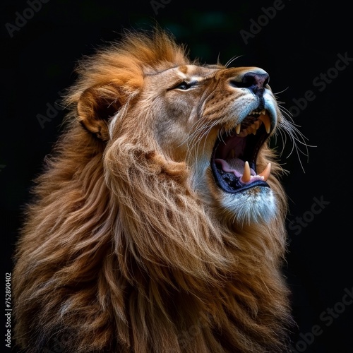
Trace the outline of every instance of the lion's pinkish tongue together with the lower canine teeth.
<path fill-rule="evenodd" d="M 263 172 L 256 175 L 256 172 L 249 167 L 249 162 L 244 162 L 244 160 L 239 158 L 232 158 L 232 160 L 229 160 L 229 162 L 226 162 L 221 158 L 217 158 L 215 159 L 215 163 L 220 164 L 223 172 L 233 173 L 236 177 L 241 178 L 243 183 L 251 183 L 256 180 L 267 181 L 271 172 L 271 164 L 268 163 L 265 169 L 263 169 Z"/>

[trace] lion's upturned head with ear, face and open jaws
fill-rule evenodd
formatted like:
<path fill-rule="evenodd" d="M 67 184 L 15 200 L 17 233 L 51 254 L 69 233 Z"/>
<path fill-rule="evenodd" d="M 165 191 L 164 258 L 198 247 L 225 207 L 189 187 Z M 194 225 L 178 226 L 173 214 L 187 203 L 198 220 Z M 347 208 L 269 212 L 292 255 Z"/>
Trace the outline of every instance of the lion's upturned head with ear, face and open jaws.
<path fill-rule="evenodd" d="M 165 167 L 188 173 L 209 207 L 239 224 L 267 222 L 277 211 L 266 142 L 282 119 L 268 73 L 200 66 L 166 40 L 133 37 L 85 66 L 91 80 L 92 71 L 103 72 L 75 88 L 77 99 L 88 86 L 77 100 L 78 119 L 107 141 L 108 154 L 126 143 L 150 150 Z"/>

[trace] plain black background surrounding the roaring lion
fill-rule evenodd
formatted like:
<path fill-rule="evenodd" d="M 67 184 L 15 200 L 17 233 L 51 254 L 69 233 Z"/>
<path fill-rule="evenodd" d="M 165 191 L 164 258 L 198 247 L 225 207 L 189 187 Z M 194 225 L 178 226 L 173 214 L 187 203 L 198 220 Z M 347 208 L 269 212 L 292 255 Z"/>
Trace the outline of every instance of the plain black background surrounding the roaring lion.
<path fill-rule="evenodd" d="M 157 22 L 187 44 L 192 59 L 215 64 L 219 58 L 225 64 L 241 55 L 234 65 L 268 71 L 282 106 L 293 113 L 307 143 L 317 146 L 309 148 L 308 162 L 300 152 L 299 157 L 295 151 L 290 155 L 293 143 L 287 140 L 281 158 L 290 171 L 283 183 L 290 210 L 285 273 L 298 325 L 292 347 L 293 352 L 352 353 L 353 48 L 348 5 L 294 0 L 46 1 L 1 3 L 5 273 L 11 272 L 20 212 L 32 179 L 59 135 L 65 112 L 57 104 L 76 78 L 76 62 L 105 42 L 119 40 L 124 28 L 150 28 Z M 42 125 L 39 114 L 48 118 Z M 282 144 L 281 139 L 277 142 Z"/>

